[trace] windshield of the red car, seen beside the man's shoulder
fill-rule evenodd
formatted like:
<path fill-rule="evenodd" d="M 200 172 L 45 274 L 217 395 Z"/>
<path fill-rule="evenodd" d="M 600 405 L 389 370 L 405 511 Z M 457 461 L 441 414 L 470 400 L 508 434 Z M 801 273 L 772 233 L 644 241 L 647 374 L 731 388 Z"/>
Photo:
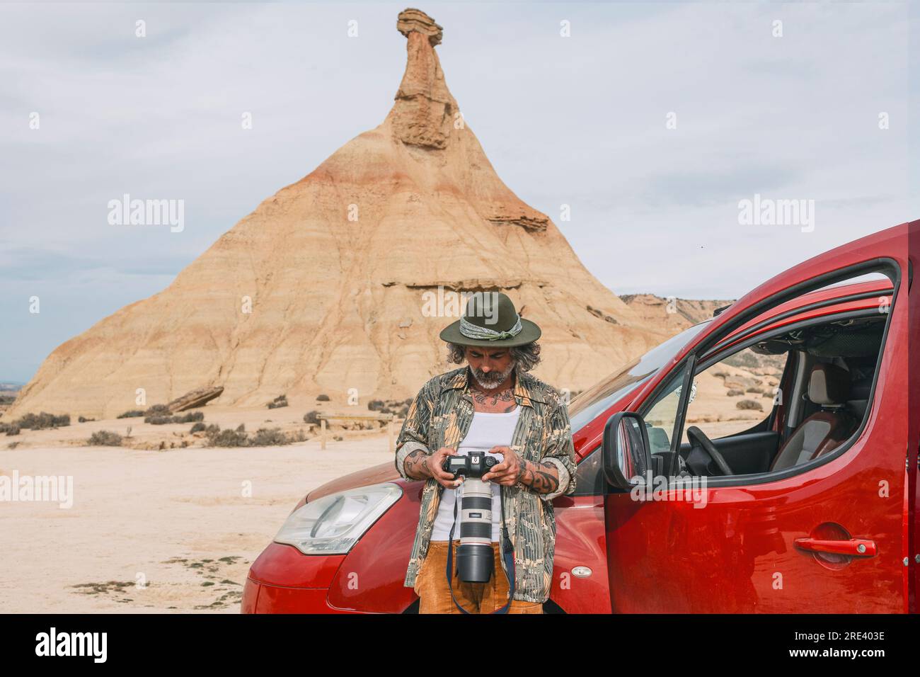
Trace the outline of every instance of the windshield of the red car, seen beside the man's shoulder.
<path fill-rule="evenodd" d="M 672 336 L 663 344 L 652 348 L 645 355 L 633 360 L 606 379 L 581 392 L 569 403 L 569 421 L 574 433 L 615 403 L 639 383 L 650 379 L 660 368 L 668 364 L 684 345 L 700 333 L 711 320 L 702 321 L 683 332 Z"/>

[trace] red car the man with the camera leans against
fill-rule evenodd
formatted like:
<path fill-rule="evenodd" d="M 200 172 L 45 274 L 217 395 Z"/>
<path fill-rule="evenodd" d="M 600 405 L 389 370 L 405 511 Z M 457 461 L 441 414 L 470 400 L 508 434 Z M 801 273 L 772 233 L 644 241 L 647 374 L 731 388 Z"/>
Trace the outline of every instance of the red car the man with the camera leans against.
<path fill-rule="evenodd" d="M 917 612 L 918 239 L 800 263 L 569 404 L 547 613 Z M 243 613 L 417 612 L 422 484 L 387 462 L 312 491 Z"/>

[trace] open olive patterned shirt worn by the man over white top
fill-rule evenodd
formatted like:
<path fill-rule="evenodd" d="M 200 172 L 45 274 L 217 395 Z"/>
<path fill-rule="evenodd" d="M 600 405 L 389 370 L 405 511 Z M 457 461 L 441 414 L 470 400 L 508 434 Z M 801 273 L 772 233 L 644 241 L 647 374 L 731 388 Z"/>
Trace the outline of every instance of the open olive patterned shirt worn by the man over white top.
<path fill-rule="evenodd" d="M 474 413 L 468 375 L 468 368 L 462 367 L 436 376 L 422 386 L 412 402 L 397 438 L 396 467 L 405 479 L 414 481 L 403 468 L 409 453 L 416 449 L 427 454 L 442 447 L 457 449 L 466 437 Z M 520 483 L 500 486 L 505 523 L 514 547 L 513 599 L 543 602 L 549 597 L 556 546 L 552 500 L 575 492 L 575 449 L 569 412 L 556 390 L 535 376 L 516 370 L 514 400 L 522 409 L 511 448 L 522 459 L 553 463 L 559 473 L 559 486 L 552 494 L 538 494 Z M 403 583 L 406 587 L 415 586 L 421 561 L 428 553 L 442 494 L 441 484 L 433 478 L 426 480 L 419 526 Z M 500 549 L 504 569 L 503 543 Z"/>

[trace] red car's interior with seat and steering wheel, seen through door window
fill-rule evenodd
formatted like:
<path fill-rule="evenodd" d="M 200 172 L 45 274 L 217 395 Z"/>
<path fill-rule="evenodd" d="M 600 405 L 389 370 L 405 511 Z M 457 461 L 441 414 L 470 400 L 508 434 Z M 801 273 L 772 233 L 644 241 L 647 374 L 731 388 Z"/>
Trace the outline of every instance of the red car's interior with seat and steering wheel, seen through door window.
<path fill-rule="evenodd" d="M 672 431 L 656 426 L 655 416 L 646 417 L 655 467 L 668 473 L 676 465 L 679 474 L 707 476 L 768 473 L 802 465 L 838 449 L 856 435 L 868 414 L 886 318 L 884 313 L 868 317 L 863 313 L 799 326 L 745 348 L 774 365 L 772 371 L 758 370 L 753 366 L 753 356 L 748 356 L 744 364 L 752 366 L 743 372 L 748 374 L 747 382 L 751 374 L 767 374 L 776 380 L 776 389 L 752 387 L 743 392 L 726 388 L 719 394 L 717 388 L 715 394 L 707 394 L 709 399 L 722 397 L 726 401 L 708 403 L 713 411 L 730 412 L 734 401 L 739 410 L 738 421 L 730 420 L 732 414 L 721 414 L 718 421 L 709 420 L 715 416 L 694 421 L 691 413 L 695 395 L 700 397 L 696 388 L 699 373 L 695 374 L 679 458 L 674 459 L 671 454 Z M 732 369 L 732 364 L 739 363 L 732 362 L 732 356 L 725 356 L 700 373 L 714 373 L 725 383 L 731 379 L 744 381 L 732 375 L 732 371 L 739 371 Z M 710 377 L 709 381 L 715 379 Z M 760 383 L 761 379 L 755 382 Z M 703 390 L 700 387 L 699 391 Z M 678 385 L 673 391 L 674 403 L 679 399 L 679 391 Z M 745 396 L 752 399 L 744 400 Z M 659 403 L 666 402 L 667 397 L 665 393 Z M 762 415 L 760 412 L 763 418 L 756 421 Z M 663 418 L 673 421 L 667 415 Z M 742 429 L 726 434 L 726 426 L 742 426 Z"/>

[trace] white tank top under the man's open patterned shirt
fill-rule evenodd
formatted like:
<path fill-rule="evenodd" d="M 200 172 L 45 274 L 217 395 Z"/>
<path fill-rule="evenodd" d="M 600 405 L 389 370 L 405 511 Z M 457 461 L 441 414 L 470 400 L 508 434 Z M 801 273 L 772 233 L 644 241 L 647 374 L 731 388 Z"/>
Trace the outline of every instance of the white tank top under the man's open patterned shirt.
<path fill-rule="evenodd" d="M 505 414 L 489 414 L 488 412 L 473 412 L 469 422 L 466 438 L 457 447 L 457 456 L 466 456 L 470 451 L 485 451 L 488 456 L 502 459 L 500 454 L 489 453 L 492 447 L 510 447 L 517 426 L 521 406 L 514 407 L 512 412 Z M 490 482 L 492 485 L 492 542 L 499 542 L 501 531 L 501 485 Z M 463 496 L 463 484 L 459 491 Z M 434 519 L 434 529 L 431 531 L 431 541 L 446 541 L 451 533 L 451 524 L 454 521 L 454 503 L 456 503 L 457 489 L 444 488 L 441 503 L 438 505 L 438 514 Z M 457 510 L 456 528 L 454 539 L 460 538 L 460 510 Z"/>

